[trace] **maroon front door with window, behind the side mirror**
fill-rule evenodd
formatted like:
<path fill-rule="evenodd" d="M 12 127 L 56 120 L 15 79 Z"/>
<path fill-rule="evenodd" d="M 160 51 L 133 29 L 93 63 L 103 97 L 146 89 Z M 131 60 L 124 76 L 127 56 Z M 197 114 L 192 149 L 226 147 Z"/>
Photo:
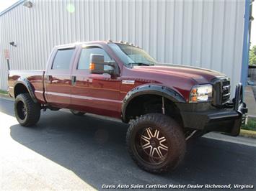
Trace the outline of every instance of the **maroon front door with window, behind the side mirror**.
<path fill-rule="evenodd" d="M 89 113 L 105 116 L 120 116 L 120 78 L 111 75 L 92 74 L 89 70 L 89 57 L 91 54 L 104 55 L 105 61 L 112 58 L 98 46 L 83 47 L 74 65 L 71 78 L 71 107 Z M 108 66 L 105 66 L 107 70 Z"/>

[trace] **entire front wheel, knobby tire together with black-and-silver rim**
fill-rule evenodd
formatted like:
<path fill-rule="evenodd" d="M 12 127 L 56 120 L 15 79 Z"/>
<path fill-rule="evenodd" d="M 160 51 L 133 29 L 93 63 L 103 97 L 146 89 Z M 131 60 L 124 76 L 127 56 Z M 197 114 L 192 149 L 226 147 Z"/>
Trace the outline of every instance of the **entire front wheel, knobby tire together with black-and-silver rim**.
<path fill-rule="evenodd" d="M 133 121 L 128 128 L 126 144 L 138 166 L 153 173 L 177 167 L 186 147 L 180 125 L 160 113 L 150 113 Z"/>

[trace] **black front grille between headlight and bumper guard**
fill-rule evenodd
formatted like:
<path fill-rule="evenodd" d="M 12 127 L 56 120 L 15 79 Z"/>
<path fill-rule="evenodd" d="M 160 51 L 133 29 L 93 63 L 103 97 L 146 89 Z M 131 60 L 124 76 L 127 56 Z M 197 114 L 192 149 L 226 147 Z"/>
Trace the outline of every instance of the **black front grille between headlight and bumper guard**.
<path fill-rule="evenodd" d="M 223 106 L 229 102 L 230 81 L 228 78 L 216 78 L 213 83 L 213 105 Z"/>

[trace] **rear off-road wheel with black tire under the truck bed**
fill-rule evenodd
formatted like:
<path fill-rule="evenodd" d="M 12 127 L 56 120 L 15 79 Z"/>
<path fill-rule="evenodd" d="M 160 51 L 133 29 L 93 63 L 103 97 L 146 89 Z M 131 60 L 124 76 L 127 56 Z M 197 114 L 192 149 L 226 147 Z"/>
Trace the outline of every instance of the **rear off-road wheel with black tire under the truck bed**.
<path fill-rule="evenodd" d="M 22 114 L 23 109 L 26 114 L 24 112 Z M 30 93 L 17 95 L 14 103 L 14 111 L 17 121 L 21 126 L 33 126 L 40 119 L 40 104 L 32 101 Z"/>

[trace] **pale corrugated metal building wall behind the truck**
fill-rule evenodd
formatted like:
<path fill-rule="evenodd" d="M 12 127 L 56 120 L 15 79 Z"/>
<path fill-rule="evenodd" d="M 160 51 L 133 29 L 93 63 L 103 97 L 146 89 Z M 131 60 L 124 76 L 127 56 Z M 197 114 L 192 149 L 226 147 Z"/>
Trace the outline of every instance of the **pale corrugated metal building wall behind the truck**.
<path fill-rule="evenodd" d="M 7 88 L 4 49 L 12 69 L 44 69 L 54 45 L 98 39 L 133 42 L 160 62 L 221 71 L 233 90 L 240 80 L 244 0 L 32 3 L 0 17 L 1 89 Z"/>

